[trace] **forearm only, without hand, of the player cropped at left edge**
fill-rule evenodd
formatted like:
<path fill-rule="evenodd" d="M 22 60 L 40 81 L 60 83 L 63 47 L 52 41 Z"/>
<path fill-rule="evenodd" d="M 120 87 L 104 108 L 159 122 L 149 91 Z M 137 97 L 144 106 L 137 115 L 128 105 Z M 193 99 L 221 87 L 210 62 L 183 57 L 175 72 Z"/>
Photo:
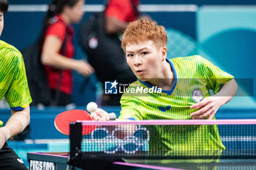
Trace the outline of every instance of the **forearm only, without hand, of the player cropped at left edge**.
<path fill-rule="evenodd" d="M 26 107 L 21 111 L 12 111 L 12 116 L 7 121 L 5 127 L 10 129 L 10 136 L 20 134 L 21 131 L 29 125 L 30 109 Z"/>

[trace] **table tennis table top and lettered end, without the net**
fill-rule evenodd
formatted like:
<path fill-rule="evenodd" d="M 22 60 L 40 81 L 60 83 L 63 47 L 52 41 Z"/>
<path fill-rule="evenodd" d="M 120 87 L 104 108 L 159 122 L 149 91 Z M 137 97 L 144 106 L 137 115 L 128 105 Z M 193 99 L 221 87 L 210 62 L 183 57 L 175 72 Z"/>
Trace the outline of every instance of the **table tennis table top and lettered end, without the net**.
<path fill-rule="evenodd" d="M 27 158 L 29 169 L 35 170 L 64 170 L 71 169 L 67 165 L 69 152 L 29 152 Z M 91 161 L 91 160 L 89 160 Z M 218 163 L 161 163 L 162 160 L 120 160 L 113 161 L 107 166 L 112 170 L 144 170 L 144 169 L 256 169 L 256 159 L 220 159 Z M 85 161 L 86 163 L 86 161 Z M 91 163 L 102 163 L 95 159 Z M 105 168 L 107 167 L 105 166 Z M 97 169 L 95 169 L 97 170 Z M 100 169 L 102 170 L 102 169 Z"/>

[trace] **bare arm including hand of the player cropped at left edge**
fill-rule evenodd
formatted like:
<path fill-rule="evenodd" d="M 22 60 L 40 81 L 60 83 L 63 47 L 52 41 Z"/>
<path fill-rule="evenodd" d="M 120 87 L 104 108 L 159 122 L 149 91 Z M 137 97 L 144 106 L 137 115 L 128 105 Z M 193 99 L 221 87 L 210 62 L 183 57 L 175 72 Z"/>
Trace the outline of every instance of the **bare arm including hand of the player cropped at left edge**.
<path fill-rule="evenodd" d="M 29 106 L 20 111 L 12 110 L 12 115 L 4 127 L 0 128 L 0 148 L 4 143 L 16 134 L 20 134 L 29 125 L 30 108 Z"/>

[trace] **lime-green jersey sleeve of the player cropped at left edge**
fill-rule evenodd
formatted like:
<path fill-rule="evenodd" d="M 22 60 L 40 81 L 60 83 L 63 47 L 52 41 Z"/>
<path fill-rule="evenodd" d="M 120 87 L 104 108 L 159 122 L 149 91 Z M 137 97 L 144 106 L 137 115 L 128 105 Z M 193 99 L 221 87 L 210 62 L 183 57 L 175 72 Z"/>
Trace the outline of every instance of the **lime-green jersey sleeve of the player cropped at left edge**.
<path fill-rule="evenodd" d="M 11 64 L 14 66 L 8 75 L 11 79 L 11 83 L 4 97 L 12 110 L 22 110 L 28 107 L 32 101 L 23 58 L 22 55 L 15 50 L 8 52 L 6 55 L 10 55 L 9 57 L 13 58 Z"/>

